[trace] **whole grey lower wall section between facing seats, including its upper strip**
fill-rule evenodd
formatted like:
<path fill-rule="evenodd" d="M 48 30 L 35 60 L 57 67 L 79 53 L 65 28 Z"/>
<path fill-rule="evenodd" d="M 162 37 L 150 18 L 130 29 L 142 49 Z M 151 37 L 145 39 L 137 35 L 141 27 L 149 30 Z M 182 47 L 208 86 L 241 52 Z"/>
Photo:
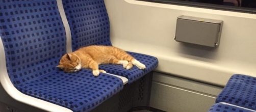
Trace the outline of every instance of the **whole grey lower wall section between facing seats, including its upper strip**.
<path fill-rule="evenodd" d="M 157 72 L 152 80 L 150 106 L 170 112 L 208 111 L 223 89 Z"/>

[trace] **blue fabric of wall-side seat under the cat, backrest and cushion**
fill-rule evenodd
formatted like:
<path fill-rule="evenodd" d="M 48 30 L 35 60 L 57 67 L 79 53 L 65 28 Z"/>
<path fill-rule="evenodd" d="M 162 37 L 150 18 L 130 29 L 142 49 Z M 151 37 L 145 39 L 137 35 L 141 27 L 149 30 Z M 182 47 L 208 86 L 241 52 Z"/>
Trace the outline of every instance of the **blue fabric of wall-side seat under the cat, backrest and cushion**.
<path fill-rule="evenodd" d="M 64 0 L 63 7 L 71 29 L 73 50 L 89 45 L 111 45 L 109 17 L 104 0 Z M 155 57 L 130 53 L 146 65 L 146 70 L 137 67 L 125 70 L 121 65 L 101 65 L 100 68 L 108 73 L 125 76 L 131 83 L 158 65 Z"/>

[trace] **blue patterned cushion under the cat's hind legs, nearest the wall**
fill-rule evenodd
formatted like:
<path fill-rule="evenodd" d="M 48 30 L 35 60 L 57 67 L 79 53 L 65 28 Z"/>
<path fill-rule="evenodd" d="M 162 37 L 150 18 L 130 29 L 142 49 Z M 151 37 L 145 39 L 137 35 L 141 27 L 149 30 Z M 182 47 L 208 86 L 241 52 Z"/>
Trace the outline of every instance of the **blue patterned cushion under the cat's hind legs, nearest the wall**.
<path fill-rule="evenodd" d="M 155 57 L 135 52 L 128 53 L 146 65 L 146 69 L 140 70 L 138 67 L 134 66 L 132 69 L 126 70 L 122 65 L 115 64 L 100 65 L 99 68 L 107 71 L 108 73 L 124 76 L 129 79 L 128 83 L 132 83 L 158 66 L 158 59 Z"/>

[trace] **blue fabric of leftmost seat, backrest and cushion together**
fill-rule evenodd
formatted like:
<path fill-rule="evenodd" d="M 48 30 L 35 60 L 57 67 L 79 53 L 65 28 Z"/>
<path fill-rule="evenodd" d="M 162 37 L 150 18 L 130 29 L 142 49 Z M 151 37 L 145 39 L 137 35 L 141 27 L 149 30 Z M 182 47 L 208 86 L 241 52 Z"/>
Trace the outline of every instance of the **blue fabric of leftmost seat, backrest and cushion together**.
<path fill-rule="evenodd" d="M 0 36 L 8 75 L 22 93 L 73 111 L 90 111 L 123 88 L 119 78 L 56 68 L 66 35 L 56 0 L 1 1 Z"/>

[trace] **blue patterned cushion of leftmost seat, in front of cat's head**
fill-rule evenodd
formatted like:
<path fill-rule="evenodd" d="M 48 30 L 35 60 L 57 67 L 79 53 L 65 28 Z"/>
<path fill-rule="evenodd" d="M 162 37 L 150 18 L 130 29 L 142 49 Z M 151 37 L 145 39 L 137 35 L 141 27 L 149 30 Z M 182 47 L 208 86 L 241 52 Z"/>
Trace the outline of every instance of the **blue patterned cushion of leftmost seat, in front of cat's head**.
<path fill-rule="evenodd" d="M 16 87 L 24 94 L 55 103 L 73 111 L 90 111 L 123 88 L 122 80 L 90 70 L 75 73 L 54 72 L 24 82 Z"/>

